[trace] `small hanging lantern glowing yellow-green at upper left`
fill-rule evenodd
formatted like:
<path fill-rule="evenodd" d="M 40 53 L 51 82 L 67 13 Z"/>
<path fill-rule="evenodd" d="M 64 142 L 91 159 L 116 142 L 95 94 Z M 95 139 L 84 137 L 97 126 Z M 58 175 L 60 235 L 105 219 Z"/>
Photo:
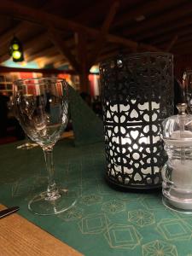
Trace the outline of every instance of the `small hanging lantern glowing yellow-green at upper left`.
<path fill-rule="evenodd" d="M 10 55 L 13 58 L 13 61 L 15 62 L 24 61 L 22 44 L 20 43 L 20 40 L 18 38 L 14 37 L 11 40 L 9 51 L 10 51 Z"/>

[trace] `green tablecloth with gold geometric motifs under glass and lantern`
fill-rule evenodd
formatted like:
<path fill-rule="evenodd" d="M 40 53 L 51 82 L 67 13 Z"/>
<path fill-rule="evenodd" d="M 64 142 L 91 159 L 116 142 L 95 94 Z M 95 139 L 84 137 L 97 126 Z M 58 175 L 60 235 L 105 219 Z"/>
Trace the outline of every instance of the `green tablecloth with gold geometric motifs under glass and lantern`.
<path fill-rule="evenodd" d="M 75 148 L 55 145 L 55 176 L 78 202 L 71 210 L 41 217 L 27 210 L 35 191 L 46 188 L 41 148 L 0 147 L 0 202 L 20 206 L 19 214 L 84 255 L 192 256 L 192 215 L 173 212 L 161 195 L 123 193 L 104 181 L 102 143 Z M 63 254 L 65 255 L 65 254 Z"/>

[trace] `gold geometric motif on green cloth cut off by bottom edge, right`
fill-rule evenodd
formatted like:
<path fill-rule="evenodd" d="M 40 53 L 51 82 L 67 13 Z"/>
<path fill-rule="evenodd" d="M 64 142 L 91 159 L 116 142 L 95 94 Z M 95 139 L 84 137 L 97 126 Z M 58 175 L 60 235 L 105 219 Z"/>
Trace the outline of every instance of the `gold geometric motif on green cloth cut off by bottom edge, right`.
<path fill-rule="evenodd" d="M 177 256 L 177 248 L 164 241 L 150 241 L 143 245 L 143 256 Z"/>

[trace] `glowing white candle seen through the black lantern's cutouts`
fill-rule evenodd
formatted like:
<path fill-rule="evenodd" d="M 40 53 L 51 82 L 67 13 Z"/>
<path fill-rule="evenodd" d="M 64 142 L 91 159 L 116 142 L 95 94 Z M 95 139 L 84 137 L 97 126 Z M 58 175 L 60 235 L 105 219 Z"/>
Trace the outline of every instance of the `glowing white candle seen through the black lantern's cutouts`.
<path fill-rule="evenodd" d="M 106 115 L 107 120 L 110 119 L 110 122 L 113 120 L 115 125 L 114 132 L 108 130 L 108 136 L 113 136 L 112 143 L 115 143 L 115 147 L 109 150 L 111 162 L 114 165 L 111 174 L 113 177 L 115 173 L 134 175 L 134 180 L 140 182 L 143 177 L 160 172 L 156 159 L 156 154 L 159 153 L 155 148 L 156 143 L 161 140 L 160 129 L 156 123 L 160 113 L 160 103 L 144 102 L 137 104 L 136 108 L 134 108 L 136 101 L 132 100 L 131 103 L 132 105 L 110 106 L 111 111 Z M 142 119 L 138 119 L 141 116 Z M 128 129 L 125 129 L 125 123 Z M 109 122 L 108 125 L 110 125 Z M 151 136 L 152 132 L 153 136 Z M 116 157 L 118 155 L 114 153 L 116 150 L 122 154 L 122 157 Z M 128 177 L 126 177 L 127 180 Z M 159 182 L 159 179 L 154 180 L 155 182 Z M 147 183 L 152 183 L 151 178 L 148 177 Z"/>

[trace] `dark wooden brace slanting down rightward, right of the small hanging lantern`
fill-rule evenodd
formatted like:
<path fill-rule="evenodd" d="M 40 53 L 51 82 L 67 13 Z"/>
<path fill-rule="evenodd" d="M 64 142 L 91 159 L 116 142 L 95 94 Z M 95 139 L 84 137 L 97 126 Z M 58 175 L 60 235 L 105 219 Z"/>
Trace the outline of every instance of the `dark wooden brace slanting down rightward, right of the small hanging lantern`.
<path fill-rule="evenodd" d="M 49 40 L 52 42 L 52 44 L 55 45 L 55 47 L 59 50 L 61 55 L 67 58 L 67 60 L 71 63 L 73 68 L 77 72 L 80 72 L 79 63 L 75 59 L 75 56 L 71 53 L 71 49 L 67 47 L 65 41 L 61 39 L 61 36 L 58 34 L 58 32 L 55 31 L 55 29 L 52 26 L 49 26 Z"/>

